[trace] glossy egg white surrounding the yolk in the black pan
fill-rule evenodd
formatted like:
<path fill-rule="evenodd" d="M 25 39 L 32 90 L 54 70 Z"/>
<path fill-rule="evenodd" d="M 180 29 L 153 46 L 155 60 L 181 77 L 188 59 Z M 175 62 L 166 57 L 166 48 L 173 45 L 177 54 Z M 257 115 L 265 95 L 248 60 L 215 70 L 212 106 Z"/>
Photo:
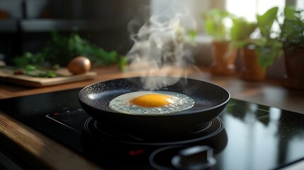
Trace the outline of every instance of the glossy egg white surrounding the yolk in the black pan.
<path fill-rule="evenodd" d="M 170 103 L 168 106 L 155 108 L 147 108 L 130 103 L 130 101 L 132 101 L 134 98 L 146 94 L 162 94 L 165 96 L 170 96 L 174 102 Z M 156 115 L 186 111 L 187 109 L 192 108 L 194 103 L 195 101 L 192 98 L 186 96 L 185 94 L 179 94 L 173 91 L 135 91 L 113 98 L 113 100 L 109 103 L 109 107 L 113 111 L 119 113 L 127 113 L 131 115 Z"/>

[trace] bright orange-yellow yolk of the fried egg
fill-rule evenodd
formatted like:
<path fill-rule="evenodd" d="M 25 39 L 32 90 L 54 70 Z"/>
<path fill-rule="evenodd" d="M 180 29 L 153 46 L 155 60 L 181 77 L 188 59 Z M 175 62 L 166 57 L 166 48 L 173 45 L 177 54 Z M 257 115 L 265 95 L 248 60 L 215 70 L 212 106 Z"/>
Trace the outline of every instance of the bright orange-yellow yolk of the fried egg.
<path fill-rule="evenodd" d="M 169 96 L 165 96 L 162 94 L 146 94 L 134 98 L 131 103 L 146 108 L 158 108 L 173 103 L 173 100 Z"/>

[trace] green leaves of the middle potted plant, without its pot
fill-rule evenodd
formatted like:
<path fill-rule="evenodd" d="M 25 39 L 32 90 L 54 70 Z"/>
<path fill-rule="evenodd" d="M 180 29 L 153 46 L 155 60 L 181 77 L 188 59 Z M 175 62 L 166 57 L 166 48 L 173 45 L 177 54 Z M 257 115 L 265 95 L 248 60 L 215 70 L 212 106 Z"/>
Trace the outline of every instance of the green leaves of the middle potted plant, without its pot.
<path fill-rule="evenodd" d="M 257 15 L 257 23 L 249 23 L 244 18 L 232 18 L 232 41 L 240 49 L 247 45 L 254 45 L 259 65 L 266 69 L 277 57 L 283 54 L 282 44 L 277 37 L 271 37 L 272 27 L 277 21 L 278 7 L 269 8 L 264 14 Z M 255 29 L 260 32 L 259 38 L 252 39 L 250 35 Z"/>

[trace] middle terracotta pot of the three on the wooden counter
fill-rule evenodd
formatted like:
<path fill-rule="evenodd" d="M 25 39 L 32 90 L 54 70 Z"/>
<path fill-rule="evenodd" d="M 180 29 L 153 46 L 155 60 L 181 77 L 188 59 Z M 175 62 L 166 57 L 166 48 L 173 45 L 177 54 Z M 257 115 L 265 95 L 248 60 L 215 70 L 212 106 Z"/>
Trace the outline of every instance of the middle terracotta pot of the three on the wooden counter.
<path fill-rule="evenodd" d="M 266 69 L 258 63 L 257 52 L 254 47 L 244 47 L 241 52 L 244 67 L 241 79 L 247 81 L 262 81 L 266 78 Z"/>

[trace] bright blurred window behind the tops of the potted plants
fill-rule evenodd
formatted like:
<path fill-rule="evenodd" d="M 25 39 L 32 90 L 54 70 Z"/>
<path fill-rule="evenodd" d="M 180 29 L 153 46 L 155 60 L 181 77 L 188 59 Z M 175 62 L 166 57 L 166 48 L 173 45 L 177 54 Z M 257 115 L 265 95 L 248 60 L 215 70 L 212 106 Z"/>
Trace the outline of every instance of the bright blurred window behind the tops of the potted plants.
<path fill-rule="evenodd" d="M 165 15 L 169 16 L 168 9 L 169 11 L 178 11 L 174 4 L 188 8 L 188 14 L 196 20 L 199 33 L 203 33 L 201 13 L 208 11 L 210 8 L 226 9 L 230 13 L 247 18 L 248 21 L 256 21 L 257 14 L 264 13 L 274 6 L 278 6 L 278 13 L 282 13 L 286 5 L 295 5 L 304 9 L 304 0 L 151 0 L 152 15 L 164 14 L 164 11 L 167 11 Z M 274 24 L 274 30 L 278 30 L 277 24 Z"/>

